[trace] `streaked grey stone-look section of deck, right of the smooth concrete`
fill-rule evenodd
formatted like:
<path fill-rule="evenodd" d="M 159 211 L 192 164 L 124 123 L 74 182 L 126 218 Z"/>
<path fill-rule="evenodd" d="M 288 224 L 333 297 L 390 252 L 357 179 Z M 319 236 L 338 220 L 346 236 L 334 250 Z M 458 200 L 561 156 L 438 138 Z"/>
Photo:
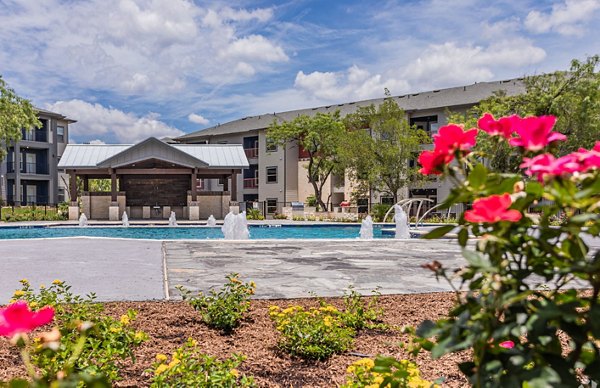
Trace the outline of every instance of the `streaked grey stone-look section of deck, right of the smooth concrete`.
<path fill-rule="evenodd" d="M 438 260 L 464 264 L 456 241 L 279 240 L 165 242 L 169 293 L 176 285 L 206 291 L 237 272 L 257 284 L 258 298 L 341 295 L 348 285 L 365 294 L 449 291 L 421 265 Z"/>

